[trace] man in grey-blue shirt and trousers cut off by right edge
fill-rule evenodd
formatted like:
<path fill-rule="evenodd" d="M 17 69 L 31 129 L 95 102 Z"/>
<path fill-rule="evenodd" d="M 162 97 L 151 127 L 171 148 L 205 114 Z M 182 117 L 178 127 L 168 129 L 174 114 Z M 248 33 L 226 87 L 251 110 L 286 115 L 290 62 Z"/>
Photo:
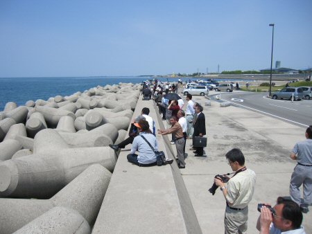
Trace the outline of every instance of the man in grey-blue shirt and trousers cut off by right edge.
<path fill-rule="evenodd" d="M 291 159 L 297 160 L 297 165 L 291 175 L 289 192 L 291 199 L 301 208 L 302 213 L 309 212 L 312 203 L 312 125 L 306 129 L 306 140 L 295 144 L 291 151 Z M 301 202 L 300 186 L 303 184 L 304 202 Z"/>

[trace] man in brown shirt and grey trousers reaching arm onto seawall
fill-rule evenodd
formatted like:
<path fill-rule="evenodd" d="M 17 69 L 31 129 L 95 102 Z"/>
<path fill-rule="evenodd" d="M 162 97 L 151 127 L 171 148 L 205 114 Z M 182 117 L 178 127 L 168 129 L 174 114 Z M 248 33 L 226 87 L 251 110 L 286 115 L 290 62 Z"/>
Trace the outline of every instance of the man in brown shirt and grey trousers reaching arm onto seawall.
<path fill-rule="evenodd" d="M 175 147 L 177 148 L 177 165 L 179 168 L 185 168 L 184 162 L 184 137 L 183 137 L 183 130 L 180 123 L 177 122 L 177 118 L 175 116 L 171 116 L 169 119 L 171 124 L 171 128 L 169 129 L 158 129 L 158 133 L 162 135 L 166 134 L 174 134 L 175 135 Z"/>

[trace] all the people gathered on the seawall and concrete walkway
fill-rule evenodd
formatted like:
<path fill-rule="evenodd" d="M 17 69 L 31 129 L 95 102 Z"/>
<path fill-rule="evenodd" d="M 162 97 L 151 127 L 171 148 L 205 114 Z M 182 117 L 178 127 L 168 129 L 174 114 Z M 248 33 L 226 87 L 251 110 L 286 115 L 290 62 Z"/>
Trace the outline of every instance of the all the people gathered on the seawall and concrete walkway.
<path fill-rule="evenodd" d="M 150 91 L 148 92 L 147 89 Z M 168 129 L 158 129 L 161 135 L 171 134 L 172 143 L 177 150 L 177 165 L 185 168 L 185 146 L 187 139 L 206 135 L 205 114 L 203 107 L 193 102 L 191 94 L 187 94 L 187 105 L 184 107 L 182 98 L 168 99 L 168 93 L 175 93 L 177 88 L 167 83 L 153 87 L 144 87 L 142 94 L 150 93 L 157 103 L 162 120 L 168 120 Z M 144 91 L 146 90 L 146 91 Z M 182 109 L 184 107 L 185 111 Z M 132 143 L 131 152 L 127 159 L 130 163 L 139 166 L 156 165 L 156 156 L 152 145 L 157 150 L 155 138 L 155 122 L 148 116 L 149 109 L 144 108 L 141 115 L 132 121 L 130 135 L 118 145 L 110 145 L 119 150 Z M 305 132 L 306 140 L 295 144 L 291 152 L 291 159 L 297 161 L 291 177 L 291 199 L 277 198 L 277 204 L 261 204 L 257 229 L 264 233 L 305 233 L 302 224 L 302 213 L 309 212 L 312 203 L 312 126 Z M 148 143 L 147 143 L 148 141 Z M 193 146 L 193 156 L 205 156 L 203 147 Z M 139 154 L 135 154 L 138 151 Z M 233 176 L 227 177 L 227 186 L 223 178 L 215 177 L 214 183 L 223 192 L 226 203 L 224 226 L 225 233 L 247 233 L 248 231 L 248 204 L 252 200 L 256 184 L 256 174 L 246 168 L 243 152 L 234 148 L 225 154 L 227 163 L 232 168 Z M 167 159 L 170 161 L 170 159 Z M 172 163 L 172 161 L 171 161 Z M 303 186 L 303 199 L 300 197 L 300 187 Z"/>

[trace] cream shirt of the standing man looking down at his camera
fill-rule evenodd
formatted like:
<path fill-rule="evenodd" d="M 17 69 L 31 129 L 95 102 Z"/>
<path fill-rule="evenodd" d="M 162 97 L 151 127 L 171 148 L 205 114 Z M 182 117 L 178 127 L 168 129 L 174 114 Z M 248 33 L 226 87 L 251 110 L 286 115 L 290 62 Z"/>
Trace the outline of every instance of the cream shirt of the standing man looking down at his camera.
<path fill-rule="evenodd" d="M 226 200 L 233 208 L 245 208 L 254 195 L 254 185 L 256 184 L 256 173 L 247 169 L 239 172 L 227 182 Z"/>

